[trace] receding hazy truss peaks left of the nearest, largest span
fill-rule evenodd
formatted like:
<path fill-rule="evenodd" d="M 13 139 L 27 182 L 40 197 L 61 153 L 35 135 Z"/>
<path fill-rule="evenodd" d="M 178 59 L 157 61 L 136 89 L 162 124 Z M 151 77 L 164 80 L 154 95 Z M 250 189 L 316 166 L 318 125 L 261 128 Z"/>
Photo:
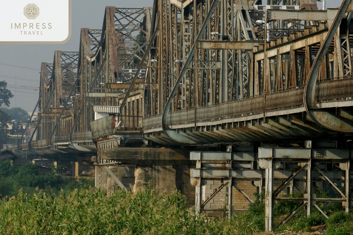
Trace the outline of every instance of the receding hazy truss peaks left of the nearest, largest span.
<path fill-rule="evenodd" d="M 89 131 L 93 106 L 119 106 L 124 98 L 145 54 L 151 10 L 106 7 L 102 30 L 81 29 L 79 52 L 55 51 L 53 64 L 42 63 L 38 131 L 27 148 L 48 149 L 55 136 L 55 142 L 79 138 L 88 150 L 94 149 Z M 144 76 L 143 69 L 137 82 L 144 83 Z M 134 110 L 131 125 L 140 126 L 142 116 L 136 110 L 142 110 L 142 96 L 136 87 L 134 94 L 140 102 L 128 100 L 122 116 L 130 119 L 126 112 Z"/>

